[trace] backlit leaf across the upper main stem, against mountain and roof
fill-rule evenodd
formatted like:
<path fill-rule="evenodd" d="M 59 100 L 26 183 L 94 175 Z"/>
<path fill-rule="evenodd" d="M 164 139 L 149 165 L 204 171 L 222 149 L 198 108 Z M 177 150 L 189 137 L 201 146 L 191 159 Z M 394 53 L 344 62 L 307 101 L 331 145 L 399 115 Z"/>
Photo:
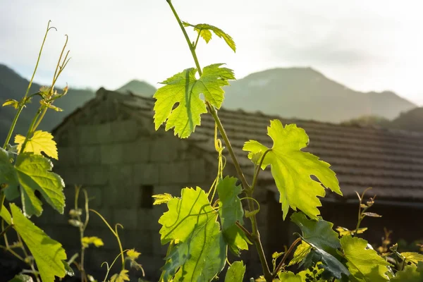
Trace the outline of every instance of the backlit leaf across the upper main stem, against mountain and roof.
<path fill-rule="evenodd" d="M 201 114 L 207 112 L 200 94 L 212 104 L 220 108 L 223 102 L 221 87 L 229 85 L 229 79 L 235 79 L 233 71 L 220 68 L 222 64 L 216 63 L 206 66 L 197 80 L 196 68 L 188 68 L 173 75 L 164 82 L 163 87 L 154 93 L 157 101 L 154 104 L 154 125 L 156 130 L 166 122 L 165 130 L 174 128 L 175 135 L 180 138 L 189 137 L 195 127 L 200 125 Z M 178 104 L 176 107 L 175 105 Z"/>

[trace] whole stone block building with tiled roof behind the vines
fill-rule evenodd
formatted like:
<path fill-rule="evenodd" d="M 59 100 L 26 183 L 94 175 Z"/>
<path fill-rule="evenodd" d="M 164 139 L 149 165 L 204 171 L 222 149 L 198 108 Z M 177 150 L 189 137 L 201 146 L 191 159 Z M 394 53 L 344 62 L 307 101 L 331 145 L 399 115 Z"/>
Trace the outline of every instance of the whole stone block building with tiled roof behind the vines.
<path fill-rule="evenodd" d="M 135 247 L 142 252 L 140 263 L 152 281 L 159 276 L 166 254 L 166 246 L 160 244 L 157 222 L 166 205 L 153 206 L 151 196 L 164 192 L 180 196 L 183 187 L 208 189 L 216 176 L 217 157 L 211 116 L 204 114 L 202 125 L 195 133 L 180 140 L 172 131 L 154 130 L 153 105 L 151 98 L 101 88 L 94 99 L 71 113 L 54 130 L 59 147 L 54 171 L 66 183 L 66 213 L 73 208 L 73 185 L 82 185 L 90 196 L 90 208 L 100 212 L 109 223 L 124 226 L 119 229 L 123 248 Z M 255 139 L 271 146 L 266 126 L 270 119 L 279 117 L 224 109 L 219 111 L 219 116 L 250 180 L 253 167 L 242 151 L 243 143 Z M 394 239 L 423 238 L 422 134 L 279 119 L 305 128 L 310 139 L 306 151 L 329 162 L 337 173 L 344 197 L 328 191 L 321 200 L 324 219 L 335 226 L 354 228 L 355 191 L 362 192 L 371 186 L 369 195 L 377 195 L 373 212 L 384 217 L 365 219 L 362 226 L 368 224 L 372 232 L 364 237 L 379 243 L 386 227 L 394 231 Z M 226 174 L 236 176 L 230 157 L 227 160 Z M 282 220 L 270 171 L 263 171 L 260 176 L 258 222 L 266 255 L 271 256 L 293 240 L 296 229 L 288 219 Z M 67 223 L 66 216 L 45 209 L 37 224 L 63 243 L 71 256 L 73 251 L 78 251 L 77 229 Z M 105 243 L 104 247 L 87 249 L 87 267 L 96 271 L 102 262 L 114 259 L 118 245 L 93 213 L 86 235 L 97 235 Z M 243 258 L 247 260 L 249 275 L 257 274 L 255 250 Z"/>

